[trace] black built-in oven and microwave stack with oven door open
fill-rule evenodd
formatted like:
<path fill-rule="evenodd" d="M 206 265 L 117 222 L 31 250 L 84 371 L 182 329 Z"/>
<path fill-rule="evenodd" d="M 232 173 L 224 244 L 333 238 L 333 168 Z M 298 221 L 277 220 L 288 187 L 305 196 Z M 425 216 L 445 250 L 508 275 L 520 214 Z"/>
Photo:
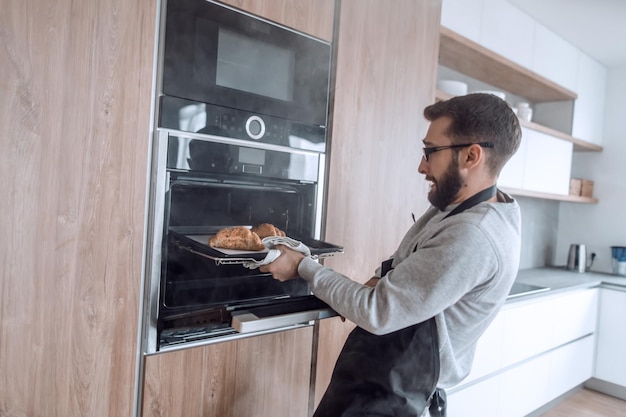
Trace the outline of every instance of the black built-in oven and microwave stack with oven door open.
<path fill-rule="evenodd" d="M 267 250 L 208 244 L 221 229 L 271 223 L 314 258 L 342 252 L 322 240 L 330 44 L 206 0 L 164 10 L 143 352 L 335 315 L 305 280 L 250 265 Z"/>

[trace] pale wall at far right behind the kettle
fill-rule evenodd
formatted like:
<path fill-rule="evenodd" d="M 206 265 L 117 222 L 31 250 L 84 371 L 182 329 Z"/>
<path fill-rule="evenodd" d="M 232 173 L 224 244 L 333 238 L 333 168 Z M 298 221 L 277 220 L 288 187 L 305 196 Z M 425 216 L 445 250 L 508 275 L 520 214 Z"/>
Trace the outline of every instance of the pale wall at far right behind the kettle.
<path fill-rule="evenodd" d="M 577 152 L 572 176 L 594 180 L 598 204 L 561 203 L 556 264 L 569 245 L 583 243 L 596 252 L 595 271 L 611 272 L 610 246 L 626 246 L 626 68 L 609 69 L 604 117 L 604 151 Z"/>

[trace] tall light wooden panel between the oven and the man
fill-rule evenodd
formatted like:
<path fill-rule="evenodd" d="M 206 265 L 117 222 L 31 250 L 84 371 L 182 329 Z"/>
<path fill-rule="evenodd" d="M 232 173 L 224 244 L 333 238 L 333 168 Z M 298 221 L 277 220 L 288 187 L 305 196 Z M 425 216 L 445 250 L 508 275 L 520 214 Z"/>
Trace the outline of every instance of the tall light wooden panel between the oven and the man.
<path fill-rule="evenodd" d="M 361 282 L 392 255 L 411 213 L 428 207 L 417 168 L 440 9 L 440 0 L 341 2 L 325 236 L 345 253 L 325 264 Z M 320 325 L 316 403 L 351 329 L 338 319 Z"/>

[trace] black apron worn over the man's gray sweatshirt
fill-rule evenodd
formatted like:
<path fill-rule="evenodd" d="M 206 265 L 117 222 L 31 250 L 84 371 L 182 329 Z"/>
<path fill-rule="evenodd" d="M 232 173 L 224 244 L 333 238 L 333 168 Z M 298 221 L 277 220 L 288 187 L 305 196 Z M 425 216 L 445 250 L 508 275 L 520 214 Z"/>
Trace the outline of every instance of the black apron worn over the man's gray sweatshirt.
<path fill-rule="evenodd" d="M 489 200 L 496 186 L 465 200 L 445 217 Z M 383 262 L 381 276 L 391 269 Z M 377 336 L 356 327 L 339 354 L 330 384 L 313 417 L 445 417 L 439 380 L 439 341 L 434 317 Z"/>

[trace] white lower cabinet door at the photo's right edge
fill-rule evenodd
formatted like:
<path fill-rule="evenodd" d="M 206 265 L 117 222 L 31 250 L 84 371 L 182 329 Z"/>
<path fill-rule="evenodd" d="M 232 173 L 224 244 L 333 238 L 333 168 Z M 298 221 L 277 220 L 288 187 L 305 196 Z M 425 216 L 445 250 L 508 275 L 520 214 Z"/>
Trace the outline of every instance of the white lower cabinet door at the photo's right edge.
<path fill-rule="evenodd" d="M 626 289 L 602 288 L 594 377 L 626 388 Z"/>

